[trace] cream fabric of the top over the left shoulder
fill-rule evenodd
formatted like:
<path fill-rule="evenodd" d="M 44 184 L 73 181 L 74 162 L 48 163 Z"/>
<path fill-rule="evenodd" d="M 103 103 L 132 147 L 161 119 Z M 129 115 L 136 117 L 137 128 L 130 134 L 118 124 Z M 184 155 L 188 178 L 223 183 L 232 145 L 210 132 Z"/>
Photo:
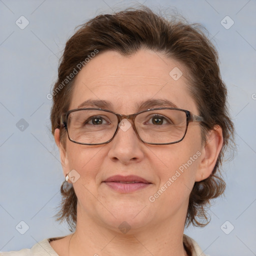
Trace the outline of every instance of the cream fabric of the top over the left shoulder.
<path fill-rule="evenodd" d="M 0 256 L 58 256 L 49 244 L 52 239 L 55 238 L 43 239 L 34 244 L 31 249 L 24 248 L 16 251 L 0 252 Z"/>

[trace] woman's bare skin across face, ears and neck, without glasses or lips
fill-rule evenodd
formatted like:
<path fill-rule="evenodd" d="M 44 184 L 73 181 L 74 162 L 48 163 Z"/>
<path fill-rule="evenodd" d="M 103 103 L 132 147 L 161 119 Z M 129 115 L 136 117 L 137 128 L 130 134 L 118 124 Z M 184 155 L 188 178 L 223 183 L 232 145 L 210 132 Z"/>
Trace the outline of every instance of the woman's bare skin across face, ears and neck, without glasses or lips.
<path fill-rule="evenodd" d="M 147 49 L 128 57 L 115 51 L 98 53 L 77 74 L 69 109 L 87 99 L 101 99 L 111 101 L 110 110 L 131 114 L 138 111 L 136 103 L 157 98 L 199 115 L 184 75 L 176 81 L 170 77 L 174 67 L 185 74 L 182 64 Z M 76 230 L 72 237 L 50 242 L 60 256 L 186 255 L 182 234 L 189 194 L 194 182 L 208 177 L 215 165 L 223 140 L 219 126 L 209 133 L 205 144 L 201 143 L 198 122 L 190 122 L 184 139 L 169 145 L 145 144 L 132 128 L 119 129 L 113 140 L 103 145 L 80 145 L 66 138 L 64 148 L 59 129 L 54 137 L 63 175 L 71 169 L 80 174 L 73 183 L 78 198 Z M 200 156 L 150 202 L 149 196 L 197 151 Z M 138 175 L 152 184 L 120 193 L 102 183 L 115 174 Z M 131 227 L 126 234 L 118 229 L 123 221 Z"/>

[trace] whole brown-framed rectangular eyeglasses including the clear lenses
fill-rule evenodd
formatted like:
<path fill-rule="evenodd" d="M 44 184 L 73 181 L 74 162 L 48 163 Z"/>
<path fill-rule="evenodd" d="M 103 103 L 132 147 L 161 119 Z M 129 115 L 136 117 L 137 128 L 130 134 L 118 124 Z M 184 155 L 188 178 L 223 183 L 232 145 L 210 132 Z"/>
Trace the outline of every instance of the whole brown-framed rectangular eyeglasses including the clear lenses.
<path fill-rule="evenodd" d="M 132 120 L 132 123 L 127 121 L 126 129 L 132 126 L 142 142 L 155 145 L 177 143 L 184 138 L 189 122 L 203 121 L 201 116 L 173 107 L 151 108 L 127 115 L 101 108 L 77 108 L 61 115 L 68 139 L 84 145 L 110 142 L 123 119 Z"/>

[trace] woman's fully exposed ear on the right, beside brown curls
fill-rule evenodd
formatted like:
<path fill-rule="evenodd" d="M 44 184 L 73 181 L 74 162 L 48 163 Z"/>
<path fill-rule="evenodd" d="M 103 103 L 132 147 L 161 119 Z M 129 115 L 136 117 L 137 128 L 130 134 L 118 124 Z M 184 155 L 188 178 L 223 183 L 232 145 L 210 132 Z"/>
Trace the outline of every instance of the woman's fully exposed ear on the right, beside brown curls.
<path fill-rule="evenodd" d="M 222 144 L 222 129 L 219 125 L 216 125 L 207 134 L 205 145 L 201 148 L 200 163 L 196 171 L 195 181 L 201 181 L 211 174 Z"/>

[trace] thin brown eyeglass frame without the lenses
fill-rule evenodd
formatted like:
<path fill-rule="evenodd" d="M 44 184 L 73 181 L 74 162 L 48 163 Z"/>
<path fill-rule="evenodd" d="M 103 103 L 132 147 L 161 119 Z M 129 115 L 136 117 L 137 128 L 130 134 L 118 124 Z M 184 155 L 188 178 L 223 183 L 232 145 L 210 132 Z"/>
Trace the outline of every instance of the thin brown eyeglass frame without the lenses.
<path fill-rule="evenodd" d="M 183 111 L 185 112 L 186 114 L 186 128 L 185 128 L 185 132 L 184 132 L 184 135 L 179 139 L 179 140 L 176 140 L 176 141 L 173 141 L 173 142 L 168 142 L 168 143 L 149 143 L 149 142 L 145 142 L 143 141 L 137 130 L 136 130 L 136 127 L 135 127 L 135 123 L 134 123 L 134 119 L 135 117 L 140 114 L 140 113 L 143 113 L 143 112 L 147 112 L 147 111 L 150 111 L 150 110 L 161 110 L 161 109 L 174 109 L 174 110 L 180 110 L 180 111 Z M 68 127 L 67 127 L 67 120 L 68 120 L 68 116 L 70 113 L 72 112 L 75 112 L 75 111 L 81 111 L 81 110 L 102 110 L 102 111 L 105 111 L 105 112 L 109 112 L 109 113 L 113 113 L 115 114 L 115 116 L 117 117 L 117 126 L 116 126 L 116 130 L 113 134 L 113 136 L 107 140 L 106 142 L 101 142 L 101 143 L 83 143 L 83 142 L 77 142 L 73 139 L 71 139 L 69 137 L 69 134 L 68 134 Z M 186 134 L 186 131 L 187 131 L 187 127 L 188 127 L 188 123 L 189 122 L 201 122 L 204 120 L 204 118 L 202 116 L 199 116 L 199 115 L 196 115 L 196 114 L 193 114 L 191 111 L 189 110 L 186 110 L 186 109 L 182 109 L 182 108 L 177 108 L 177 107 L 156 107 L 156 108 L 148 108 L 148 109 L 145 109 L 145 110 L 141 110 L 139 112 L 136 112 L 134 114 L 119 114 L 119 113 L 116 113 L 116 112 L 113 112 L 109 109 L 103 109 L 103 108 L 96 108 L 96 107 L 86 107 L 86 108 L 75 108 L 75 109 L 70 109 L 68 110 L 66 113 L 63 113 L 61 114 L 60 116 L 60 123 L 62 124 L 62 127 L 66 129 L 66 132 L 67 132 L 67 137 L 68 139 L 71 141 L 71 142 L 74 142 L 74 143 L 77 143 L 77 144 L 82 144 L 82 145 L 102 145 L 102 144 L 107 144 L 109 143 L 113 138 L 114 136 L 116 135 L 117 131 L 118 131 L 118 127 L 119 127 L 119 123 L 123 120 L 123 119 L 130 119 L 132 120 L 132 127 L 133 127 L 133 130 L 135 131 L 137 137 L 139 138 L 139 140 L 141 140 L 143 143 L 146 143 L 146 144 L 151 144 L 151 145 L 168 145 L 168 144 L 174 144 L 174 143 L 178 143 L 180 142 L 184 137 L 185 137 L 185 134 Z"/>

